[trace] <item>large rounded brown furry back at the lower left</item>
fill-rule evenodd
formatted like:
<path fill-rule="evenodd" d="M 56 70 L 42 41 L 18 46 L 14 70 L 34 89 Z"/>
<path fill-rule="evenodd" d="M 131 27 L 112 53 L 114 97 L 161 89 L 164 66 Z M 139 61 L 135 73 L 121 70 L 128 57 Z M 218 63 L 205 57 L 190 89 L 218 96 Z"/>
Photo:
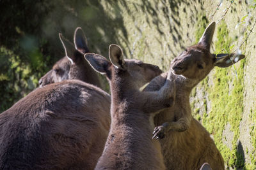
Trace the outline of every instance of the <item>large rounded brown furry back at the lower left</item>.
<path fill-rule="evenodd" d="M 0 115 L 0 169 L 94 169 L 109 110 L 109 94 L 79 80 L 35 89 Z"/>

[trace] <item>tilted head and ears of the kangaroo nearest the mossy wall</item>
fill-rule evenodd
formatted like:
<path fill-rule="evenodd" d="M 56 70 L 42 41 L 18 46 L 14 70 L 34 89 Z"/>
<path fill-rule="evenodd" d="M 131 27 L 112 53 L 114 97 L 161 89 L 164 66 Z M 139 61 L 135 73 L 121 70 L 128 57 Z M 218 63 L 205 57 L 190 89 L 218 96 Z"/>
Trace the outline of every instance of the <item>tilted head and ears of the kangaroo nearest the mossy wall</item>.
<path fill-rule="evenodd" d="M 200 81 L 214 66 L 228 67 L 244 58 L 244 55 L 240 54 L 220 53 L 216 55 L 210 52 L 215 25 L 215 22 L 212 22 L 205 29 L 197 45 L 189 46 L 173 60 L 172 69 L 175 74 Z"/>

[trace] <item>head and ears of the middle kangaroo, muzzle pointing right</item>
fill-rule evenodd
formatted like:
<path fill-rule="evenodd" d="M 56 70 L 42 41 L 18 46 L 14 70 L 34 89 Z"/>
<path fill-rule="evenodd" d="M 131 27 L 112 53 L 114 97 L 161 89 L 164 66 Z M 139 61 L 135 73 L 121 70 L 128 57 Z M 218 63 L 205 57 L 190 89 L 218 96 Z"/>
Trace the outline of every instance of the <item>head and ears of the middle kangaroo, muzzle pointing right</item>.
<path fill-rule="evenodd" d="M 140 88 L 162 73 L 158 66 L 140 60 L 124 59 L 122 49 L 118 45 L 109 46 L 110 61 L 94 53 L 86 53 L 84 57 L 95 71 L 105 74 L 109 81 L 118 81 L 118 77 L 119 80 L 125 80 L 127 87 Z"/>

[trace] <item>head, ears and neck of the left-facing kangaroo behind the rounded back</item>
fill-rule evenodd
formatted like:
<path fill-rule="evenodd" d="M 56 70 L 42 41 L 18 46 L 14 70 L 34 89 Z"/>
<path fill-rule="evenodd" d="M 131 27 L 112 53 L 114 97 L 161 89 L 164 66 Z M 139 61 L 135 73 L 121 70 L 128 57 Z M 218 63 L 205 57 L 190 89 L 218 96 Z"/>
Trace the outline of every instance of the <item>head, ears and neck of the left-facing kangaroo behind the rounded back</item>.
<path fill-rule="evenodd" d="M 99 76 L 84 59 L 84 53 L 88 53 L 87 40 L 81 27 L 74 32 L 74 45 L 59 34 L 66 56 L 60 59 L 52 69 L 38 81 L 40 87 L 49 83 L 63 80 L 77 79 L 91 83 L 102 88 Z"/>

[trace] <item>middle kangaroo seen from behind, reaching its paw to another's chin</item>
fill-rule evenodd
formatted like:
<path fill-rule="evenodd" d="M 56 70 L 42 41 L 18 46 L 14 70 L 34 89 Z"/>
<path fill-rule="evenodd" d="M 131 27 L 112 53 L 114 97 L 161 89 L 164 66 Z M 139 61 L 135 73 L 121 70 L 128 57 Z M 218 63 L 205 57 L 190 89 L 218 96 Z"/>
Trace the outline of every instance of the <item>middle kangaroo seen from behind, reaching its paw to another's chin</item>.
<path fill-rule="evenodd" d="M 148 72 L 147 82 L 161 73 L 158 67 L 124 60 L 117 45 L 109 46 L 111 62 L 93 53 L 84 57 L 96 71 L 106 74 L 111 87 L 111 128 L 95 169 L 165 169 L 160 144 L 151 137 L 154 113 L 172 106 L 174 101 L 171 74 L 160 90 L 140 92 L 145 73 L 136 70 L 142 67 Z"/>

